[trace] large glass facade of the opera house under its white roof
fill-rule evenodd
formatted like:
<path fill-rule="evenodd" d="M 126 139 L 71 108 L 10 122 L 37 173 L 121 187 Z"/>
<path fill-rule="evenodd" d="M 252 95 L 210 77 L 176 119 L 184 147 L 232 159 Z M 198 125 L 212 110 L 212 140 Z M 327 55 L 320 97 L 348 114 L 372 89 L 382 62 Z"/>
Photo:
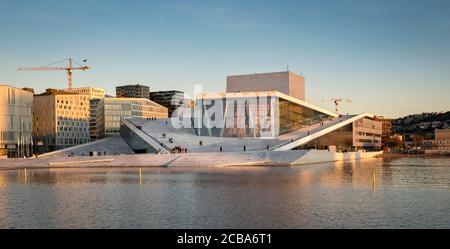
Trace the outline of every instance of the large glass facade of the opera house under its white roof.
<path fill-rule="evenodd" d="M 276 95 L 201 98 L 195 110 L 202 116 L 195 119 L 201 136 L 276 137 L 330 118 Z"/>

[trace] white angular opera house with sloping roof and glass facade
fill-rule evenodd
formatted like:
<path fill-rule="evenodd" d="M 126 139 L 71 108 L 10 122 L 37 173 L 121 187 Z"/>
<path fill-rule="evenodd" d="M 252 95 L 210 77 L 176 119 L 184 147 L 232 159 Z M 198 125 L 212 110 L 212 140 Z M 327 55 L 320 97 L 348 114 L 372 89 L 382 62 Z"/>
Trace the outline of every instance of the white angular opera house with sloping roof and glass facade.
<path fill-rule="evenodd" d="M 169 119 L 121 119 L 120 135 L 42 156 L 379 151 L 373 114 L 340 115 L 305 101 L 292 72 L 229 76 L 225 93 L 198 93 Z M 305 153 L 306 153 L 305 152 Z"/>

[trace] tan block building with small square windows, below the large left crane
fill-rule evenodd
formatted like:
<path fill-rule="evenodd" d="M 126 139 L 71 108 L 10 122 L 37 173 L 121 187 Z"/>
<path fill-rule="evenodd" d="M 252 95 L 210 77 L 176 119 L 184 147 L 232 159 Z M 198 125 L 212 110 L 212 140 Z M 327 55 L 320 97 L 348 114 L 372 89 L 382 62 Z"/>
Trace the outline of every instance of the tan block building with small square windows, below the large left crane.
<path fill-rule="evenodd" d="M 89 97 L 56 89 L 35 95 L 33 139 L 38 153 L 90 141 Z"/>

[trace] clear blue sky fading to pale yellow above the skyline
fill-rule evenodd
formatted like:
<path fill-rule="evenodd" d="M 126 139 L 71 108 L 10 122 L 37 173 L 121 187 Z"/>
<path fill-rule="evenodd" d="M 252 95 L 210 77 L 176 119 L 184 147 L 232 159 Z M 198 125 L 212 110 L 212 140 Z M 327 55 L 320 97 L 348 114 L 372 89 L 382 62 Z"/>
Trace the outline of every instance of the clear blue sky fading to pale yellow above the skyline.
<path fill-rule="evenodd" d="M 194 84 L 224 91 L 230 74 L 303 72 L 307 99 L 353 100 L 343 112 L 398 117 L 450 110 L 450 1 L 0 1 L 0 82 L 38 91 L 64 72 L 19 72 L 87 58 L 75 86 L 114 94 Z"/>

